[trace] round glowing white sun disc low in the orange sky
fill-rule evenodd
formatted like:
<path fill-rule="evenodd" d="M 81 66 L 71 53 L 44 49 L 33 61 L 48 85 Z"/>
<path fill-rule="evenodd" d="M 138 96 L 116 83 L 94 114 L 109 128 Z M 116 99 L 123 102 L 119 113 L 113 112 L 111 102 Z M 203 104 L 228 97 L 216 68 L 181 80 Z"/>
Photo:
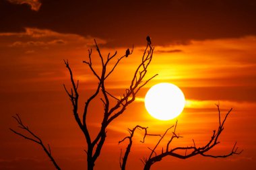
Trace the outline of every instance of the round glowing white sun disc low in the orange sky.
<path fill-rule="evenodd" d="M 171 83 L 152 86 L 145 96 L 148 113 L 159 120 L 171 120 L 181 114 L 185 97 L 181 89 Z"/>

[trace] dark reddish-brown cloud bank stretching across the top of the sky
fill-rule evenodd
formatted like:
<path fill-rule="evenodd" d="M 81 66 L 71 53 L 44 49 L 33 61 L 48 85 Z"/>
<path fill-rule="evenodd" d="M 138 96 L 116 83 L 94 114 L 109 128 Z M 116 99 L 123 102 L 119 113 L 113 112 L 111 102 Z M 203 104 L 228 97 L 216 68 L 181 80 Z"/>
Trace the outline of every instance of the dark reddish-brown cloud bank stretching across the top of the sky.
<path fill-rule="evenodd" d="M 39 11 L 0 2 L 0 32 L 24 27 L 93 36 L 108 46 L 154 45 L 256 35 L 256 3 L 245 0 L 41 1 Z"/>

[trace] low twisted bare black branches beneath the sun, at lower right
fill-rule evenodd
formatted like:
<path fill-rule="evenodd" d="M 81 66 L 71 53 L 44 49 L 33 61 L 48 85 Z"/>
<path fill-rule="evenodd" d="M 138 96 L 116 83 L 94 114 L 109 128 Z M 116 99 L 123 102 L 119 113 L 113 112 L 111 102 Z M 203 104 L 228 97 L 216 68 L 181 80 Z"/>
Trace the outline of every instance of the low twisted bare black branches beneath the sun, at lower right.
<path fill-rule="evenodd" d="M 174 138 L 182 138 L 183 136 L 180 136 L 179 134 L 177 134 L 176 129 L 177 129 L 177 122 L 176 124 L 174 124 L 173 126 L 171 126 L 170 128 L 168 128 L 164 134 L 162 136 L 160 136 L 160 139 L 158 140 L 158 142 L 156 143 L 156 145 L 154 146 L 154 148 L 149 148 L 151 153 L 150 156 L 148 158 L 143 158 L 143 160 L 141 160 L 144 164 L 144 170 L 149 170 L 150 167 L 156 163 L 161 161 L 164 157 L 177 157 L 179 159 L 188 159 L 189 157 L 194 157 L 195 155 L 201 155 L 203 157 L 213 157 L 213 158 L 225 158 L 225 157 L 229 157 L 231 155 L 239 155 L 243 152 L 243 150 L 238 151 L 238 147 L 236 147 L 236 142 L 234 143 L 234 146 L 232 147 L 232 150 L 230 151 L 230 153 L 226 154 L 226 155 L 210 155 L 207 154 L 207 151 L 210 151 L 212 148 L 214 148 L 214 146 L 216 146 L 217 144 L 220 143 L 220 141 L 218 140 L 220 134 L 222 133 L 222 131 L 224 130 L 224 123 L 226 122 L 226 118 L 228 118 L 228 115 L 230 114 L 230 112 L 232 111 L 232 108 L 228 111 L 228 113 L 226 114 L 226 116 L 224 117 L 224 120 L 221 120 L 221 115 L 220 115 L 220 105 L 217 105 L 218 108 L 218 121 L 219 121 L 219 126 L 218 126 L 218 130 L 214 130 L 213 134 L 209 140 L 209 142 L 207 142 L 204 146 L 196 146 L 195 141 L 193 140 L 193 146 L 178 146 L 178 147 L 174 147 L 174 148 L 170 148 L 170 144 L 172 142 L 172 140 L 174 140 Z M 136 128 L 141 128 L 145 130 L 145 134 L 143 136 L 143 142 L 146 138 L 148 134 L 147 132 L 147 128 L 143 128 L 141 126 L 135 126 L 135 128 L 133 128 L 133 130 L 129 130 L 130 132 L 130 136 L 125 137 L 123 140 L 125 140 L 126 138 L 129 138 L 129 145 L 127 146 L 126 152 L 125 152 L 125 157 L 123 157 L 123 164 L 121 164 L 121 169 L 124 170 L 125 169 L 125 163 L 127 161 L 127 157 L 129 155 L 129 151 L 131 149 L 131 144 L 132 144 L 132 137 L 133 137 L 133 133 L 135 131 Z M 156 153 L 156 148 L 158 147 L 158 145 L 160 144 L 161 140 L 166 136 L 168 130 L 174 128 L 174 130 L 172 130 L 172 135 L 170 136 L 170 140 L 168 140 L 166 147 L 162 148 L 161 153 Z M 123 142 L 123 140 L 121 140 L 120 142 Z M 181 154 L 183 153 L 183 154 Z"/>

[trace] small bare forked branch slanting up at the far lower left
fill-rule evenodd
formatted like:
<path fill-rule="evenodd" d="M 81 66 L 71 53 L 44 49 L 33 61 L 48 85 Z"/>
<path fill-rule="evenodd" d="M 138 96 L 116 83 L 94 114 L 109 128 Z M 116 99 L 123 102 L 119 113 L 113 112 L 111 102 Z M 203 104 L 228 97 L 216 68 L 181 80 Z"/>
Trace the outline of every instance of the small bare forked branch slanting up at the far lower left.
<path fill-rule="evenodd" d="M 16 130 L 13 130 L 11 128 L 9 128 L 13 133 L 18 134 L 19 136 L 22 136 L 23 138 L 27 139 L 27 140 L 31 140 L 32 142 L 35 142 L 36 144 L 39 144 L 42 149 L 44 150 L 44 153 L 46 153 L 46 155 L 51 159 L 53 165 L 55 166 L 56 169 L 61 169 L 59 167 L 59 165 L 57 165 L 55 159 L 53 158 L 53 156 L 51 155 L 51 148 L 50 145 L 48 144 L 47 146 L 44 145 L 44 143 L 42 142 L 42 140 L 36 135 L 34 134 L 29 128 L 28 126 L 25 126 L 22 122 L 22 119 L 20 118 L 20 116 L 18 114 L 16 114 L 15 116 L 12 116 L 18 123 L 18 127 L 21 128 L 22 130 L 25 131 L 25 133 L 28 133 L 28 135 L 22 133 L 22 132 L 18 132 Z"/>

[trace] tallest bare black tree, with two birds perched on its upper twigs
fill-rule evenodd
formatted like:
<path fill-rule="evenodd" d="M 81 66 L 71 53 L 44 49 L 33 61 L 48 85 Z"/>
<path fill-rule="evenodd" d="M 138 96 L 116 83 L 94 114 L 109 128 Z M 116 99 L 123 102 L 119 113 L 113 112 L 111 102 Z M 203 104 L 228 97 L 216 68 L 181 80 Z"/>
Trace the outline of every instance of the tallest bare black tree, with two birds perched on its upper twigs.
<path fill-rule="evenodd" d="M 77 92 L 78 81 L 75 84 L 72 71 L 69 67 L 69 62 L 67 60 L 64 60 L 65 65 L 69 70 L 71 83 L 73 86 L 70 92 L 67 91 L 65 85 L 64 87 L 65 87 L 65 91 L 69 95 L 69 98 L 71 99 L 71 103 L 73 105 L 73 115 L 75 116 L 75 120 L 79 125 L 79 128 L 82 130 L 82 132 L 84 132 L 84 136 L 86 137 L 86 142 L 88 146 L 86 151 L 87 161 L 88 161 L 88 170 L 92 170 L 94 168 L 94 163 L 96 159 L 98 159 L 98 156 L 100 155 L 100 151 L 106 139 L 107 126 L 113 120 L 115 120 L 121 114 L 123 114 L 127 106 L 135 100 L 135 95 L 139 92 L 141 87 L 143 87 L 148 83 L 148 81 L 156 77 L 156 75 L 154 75 L 150 79 L 143 82 L 143 78 L 146 76 L 147 69 L 148 69 L 148 66 L 150 65 L 150 62 L 152 61 L 153 52 L 154 52 L 154 48 L 150 44 L 148 44 L 146 46 L 146 49 L 144 50 L 141 63 L 137 67 L 135 74 L 133 76 L 133 79 L 131 80 L 131 85 L 129 86 L 129 89 L 125 89 L 125 93 L 123 94 L 123 96 L 120 99 L 118 99 L 117 97 L 115 97 L 114 95 L 112 95 L 106 90 L 104 82 L 108 78 L 108 76 L 111 73 L 113 73 L 113 71 L 119 64 L 119 62 L 125 56 L 127 56 L 127 52 L 125 55 L 121 56 L 121 58 L 117 60 L 114 67 L 110 69 L 110 71 L 107 73 L 108 63 L 117 55 L 117 52 L 115 52 L 115 54 L 113 54 L 112 56 L 110 56 L 110 53 L 108 53 L 106 61 L 104 61 L 104 58 L 100 52 L 100 48 L 98 48 L 98 44 L 96 43 L 96 41 L 95 41 L 95 45 L 96 45 L 96 50 L 98 52 L 98 55 L 100 56 L 100 60 L 102 64 L 102 72 L 101 72 L 101 75 L 98 75 L 98 73 L 96 73 L 96 71 L 92 67 L 92 59 L 91 59 L 92 50 L 89 50 L 89 61 L 84 60 L 83 62 L 90 67 L 90 70 L 92 71 L 92 73 L 98 78 L 98 87 L 96 88 L 95 93 L 86 101 L 82 120 L 80 120 L 79 115 L 77 113 L 78 97 L 79 97 Z M 133 53 L 133 50 L 131 50 L 129 54 L 132 54 L 132 53 Z M 88 130 L 86 116 L 88 114 L 88 107 L 90 105 L 90 102 L 93 99 L 95 99 L 95 97 L 99 94 L 100 90 L 104 96 L 103 99 L 101 98 L 101 101 L 104 105 L 104 114 L 103 114 L 103 120 L 101 123 L 100 132 L 98 132 L 98 135 L 96 135 L 96 138 L 92 139 L 92 136 L 90 135 L 90 132 Z M 112 108 L 110 108 L 110 98 L 114 98 L 117 101 L 117 103 Z"/>

